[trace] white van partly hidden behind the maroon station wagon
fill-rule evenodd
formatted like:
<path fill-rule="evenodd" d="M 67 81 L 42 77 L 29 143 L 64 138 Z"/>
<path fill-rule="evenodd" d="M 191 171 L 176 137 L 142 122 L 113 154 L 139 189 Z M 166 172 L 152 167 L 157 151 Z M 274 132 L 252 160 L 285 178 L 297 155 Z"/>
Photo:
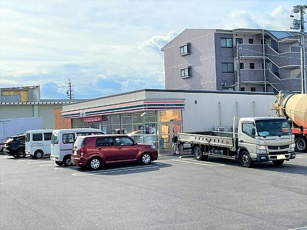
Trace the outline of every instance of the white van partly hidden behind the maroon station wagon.
<path fill-rule="evenodd" d="M 61 129 L 54 130 L 51 136 L 51 155 L 50 159 L 57 165 L 72 165 L 71 155 L 73 143 L 77 136 L 104 134 L 99 129 Z"/>

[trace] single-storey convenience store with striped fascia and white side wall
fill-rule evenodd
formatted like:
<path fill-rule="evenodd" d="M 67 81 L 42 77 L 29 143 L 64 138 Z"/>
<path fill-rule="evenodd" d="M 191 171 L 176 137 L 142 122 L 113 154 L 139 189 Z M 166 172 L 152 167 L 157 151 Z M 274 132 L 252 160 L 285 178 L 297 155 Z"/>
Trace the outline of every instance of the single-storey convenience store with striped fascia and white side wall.
<path fill-rule="evenodd" d="M 73 128 L 127 134 L 169 151 L 178 132 L 225 130 L 233 117 L 274 115 L 272 93 L 142 89 L 63 106 Z"/>

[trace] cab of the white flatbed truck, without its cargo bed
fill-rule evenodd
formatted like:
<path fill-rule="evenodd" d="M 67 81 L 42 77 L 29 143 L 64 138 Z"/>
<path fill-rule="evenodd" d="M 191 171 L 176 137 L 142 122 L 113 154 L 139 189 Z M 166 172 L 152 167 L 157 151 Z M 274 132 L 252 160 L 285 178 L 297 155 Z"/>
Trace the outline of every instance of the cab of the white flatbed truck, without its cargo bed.
<path fill-rule="evenodd" d="M 253 161 L 272 161 L 281 165 L 295 158 L 295 139 L 291 127 L 282 117 L 240 118 L 237 153 L 243 166 Z"/>

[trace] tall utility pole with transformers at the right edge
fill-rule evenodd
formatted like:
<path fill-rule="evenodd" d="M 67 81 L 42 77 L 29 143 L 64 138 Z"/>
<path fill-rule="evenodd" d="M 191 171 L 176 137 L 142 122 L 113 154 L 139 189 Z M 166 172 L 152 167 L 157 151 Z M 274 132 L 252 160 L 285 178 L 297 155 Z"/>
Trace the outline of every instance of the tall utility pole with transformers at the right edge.
<path fill-rule="evenodd" d="M 292 29 L 300 30 L 300 50 L 301 50 L 301 75 L 302 75 L 302 93 L 307 93 L 306 87 L 306 71 L 305 71 L 305 21 L 304 21 L 304 10 L 307 5 L 296 5 L 293 6 L 294 13 L 300 13 L 300 19 L 293 20 Z M 290 15 L 293 17 L 293 15 Z"/>

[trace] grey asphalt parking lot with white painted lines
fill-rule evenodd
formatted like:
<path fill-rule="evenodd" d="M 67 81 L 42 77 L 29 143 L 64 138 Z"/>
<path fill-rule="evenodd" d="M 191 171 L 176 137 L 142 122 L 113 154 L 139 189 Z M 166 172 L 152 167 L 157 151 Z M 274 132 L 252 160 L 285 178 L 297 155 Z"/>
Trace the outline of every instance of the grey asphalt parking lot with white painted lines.
<path fill-rule="evenodd" d="M 268 162 L 251 169 L 183 156 L 100 171 L 56 166 L 49 157 L 0 155 L 0 164 L 0 229 L 307 226 L 307 154 L 278 168 Z"/>

